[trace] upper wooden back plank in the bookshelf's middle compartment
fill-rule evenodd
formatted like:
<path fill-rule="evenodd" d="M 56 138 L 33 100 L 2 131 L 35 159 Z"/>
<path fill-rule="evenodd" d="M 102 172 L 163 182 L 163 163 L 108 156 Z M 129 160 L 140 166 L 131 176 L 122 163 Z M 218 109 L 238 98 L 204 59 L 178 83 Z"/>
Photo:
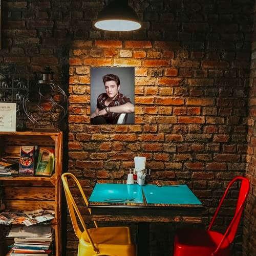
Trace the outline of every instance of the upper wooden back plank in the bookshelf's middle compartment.
<path fill-rule="evenodd" d="M 54 187 L 5 187 L 5 198 L 21 200 L 55 200 Z M 55 207 L 56 208 L 56 207 Z"/>

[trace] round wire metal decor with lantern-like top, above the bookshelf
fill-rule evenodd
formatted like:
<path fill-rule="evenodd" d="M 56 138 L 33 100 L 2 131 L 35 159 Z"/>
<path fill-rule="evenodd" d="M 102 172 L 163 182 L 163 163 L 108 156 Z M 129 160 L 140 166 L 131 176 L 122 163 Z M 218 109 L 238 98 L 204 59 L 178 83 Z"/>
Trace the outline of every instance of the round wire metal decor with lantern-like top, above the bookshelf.
<path fill-rule="evenodd" d="M 68 98 L 53 80 L 53 74 L 52 69 L 46 67 L 41 72 L 42 79 L 37 80 L 24 98 L 24 111 L 34 129 L 59 130 L 61 120 L 68 112 Z"/>

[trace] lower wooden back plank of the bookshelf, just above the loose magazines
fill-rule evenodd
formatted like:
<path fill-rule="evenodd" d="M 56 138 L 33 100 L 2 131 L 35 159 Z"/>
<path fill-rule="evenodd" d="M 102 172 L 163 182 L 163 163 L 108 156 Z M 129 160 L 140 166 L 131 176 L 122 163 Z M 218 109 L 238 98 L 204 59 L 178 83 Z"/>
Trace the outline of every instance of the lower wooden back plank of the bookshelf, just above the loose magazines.
<path fill-rule="evenodd" d="M 36 210 L 36 209 L 49 209 L 54 210 L 54 201 L 27 201 L 27 200 L 5 200 L 6 209 L 17 210 Z"/>

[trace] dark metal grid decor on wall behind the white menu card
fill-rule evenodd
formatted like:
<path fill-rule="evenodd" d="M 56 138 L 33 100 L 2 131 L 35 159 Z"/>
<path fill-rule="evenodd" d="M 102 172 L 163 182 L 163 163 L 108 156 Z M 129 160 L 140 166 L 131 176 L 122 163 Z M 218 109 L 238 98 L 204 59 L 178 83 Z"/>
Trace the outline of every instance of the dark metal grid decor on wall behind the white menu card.
<path fill-rule="evenodd" d="M 16 103 L 16 128 L 26 129 L 27 116 L 23 110 L 23 99 L 29 91 L 29 74 L 0 73 L 0 102 Z"/>

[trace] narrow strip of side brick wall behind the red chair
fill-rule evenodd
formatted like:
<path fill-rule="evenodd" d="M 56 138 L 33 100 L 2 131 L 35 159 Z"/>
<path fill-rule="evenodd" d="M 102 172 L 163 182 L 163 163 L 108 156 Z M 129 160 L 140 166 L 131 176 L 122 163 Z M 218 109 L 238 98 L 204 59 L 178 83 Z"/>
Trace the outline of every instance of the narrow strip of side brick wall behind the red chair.
<path fill-rule="evenodd" d="M 256 6 L 254 7 L 254 32 L 251 54 L 250 92 L 248 106 L 248 148 L 247 148 L 247 168 L 246 177 L 250 180 L 250 193 L 246 202 L 243 229 L 243 255 L 256 254 L 256 45 L 255 45 L 255 25 Z"/>

